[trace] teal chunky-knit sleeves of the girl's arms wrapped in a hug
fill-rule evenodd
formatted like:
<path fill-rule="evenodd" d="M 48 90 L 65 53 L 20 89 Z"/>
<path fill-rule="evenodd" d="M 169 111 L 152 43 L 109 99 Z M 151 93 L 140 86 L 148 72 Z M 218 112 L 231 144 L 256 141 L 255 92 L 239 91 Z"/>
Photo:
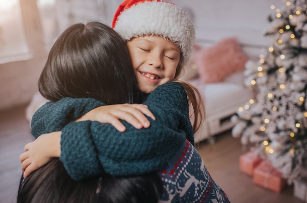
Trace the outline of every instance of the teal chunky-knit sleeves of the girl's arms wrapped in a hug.
<path fill-rule="evenodd" d="M 70 122 L 104 105 L 94 99 L 63 98 L 48 102 L 33 115 L 35 138 L 62 130 L 60 160 L 74 179 L 108 173 L 140 175 L 159 169 L 173 157 L 187 138 L 194 144 L 189 105 L 184 88 L 177 82 L 157 87 L 144 102 L 156 120 L 151 127 L 136 129 L 126 121 L 125 132 L 96 121 Z"/>

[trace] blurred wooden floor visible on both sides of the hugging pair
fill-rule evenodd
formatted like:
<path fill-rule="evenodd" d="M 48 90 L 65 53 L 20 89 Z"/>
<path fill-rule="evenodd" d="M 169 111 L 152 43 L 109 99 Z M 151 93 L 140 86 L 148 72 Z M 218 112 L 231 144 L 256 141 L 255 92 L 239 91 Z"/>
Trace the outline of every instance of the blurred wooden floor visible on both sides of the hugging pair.
<path fill-rule="evenodd" d="M 0 112 L 0 203 L 15 203 L 22 171 L 19 155 L 33 140 L 25 118 L 25 106 Z M 239 156 L 244 152 L 239 139 L 230 131 L 216 136 L 213 145 L 197 146 L 209 173 L 227 193 L 232 203 L 303 203 L 293 197 L 293 187 L 280 194 L 253 184 L 252 178 L 239 171 Z"/>

